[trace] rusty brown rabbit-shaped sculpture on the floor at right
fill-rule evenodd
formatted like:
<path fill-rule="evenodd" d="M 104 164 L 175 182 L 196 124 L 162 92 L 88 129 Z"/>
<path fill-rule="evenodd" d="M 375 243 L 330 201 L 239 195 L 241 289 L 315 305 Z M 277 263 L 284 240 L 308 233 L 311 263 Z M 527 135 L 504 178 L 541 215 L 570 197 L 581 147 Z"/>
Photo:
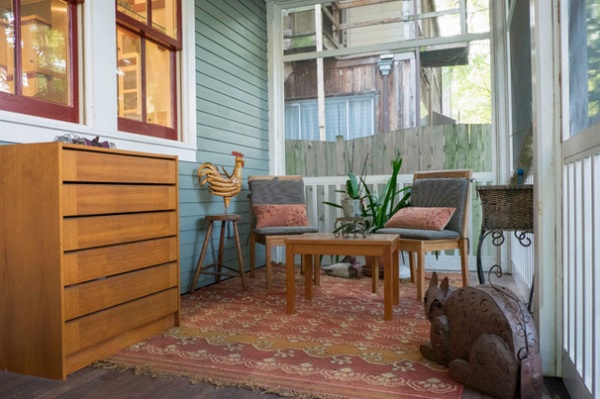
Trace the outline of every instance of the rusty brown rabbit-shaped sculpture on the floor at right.
<path fill-rule="evenodd" d="M 438 286 L 425 294 L 430 342 L 421 354 L 448 366 L 457 382 L 496 398 L 542 397 L 537 332 L 525 305 L 504 287 Z"/>

